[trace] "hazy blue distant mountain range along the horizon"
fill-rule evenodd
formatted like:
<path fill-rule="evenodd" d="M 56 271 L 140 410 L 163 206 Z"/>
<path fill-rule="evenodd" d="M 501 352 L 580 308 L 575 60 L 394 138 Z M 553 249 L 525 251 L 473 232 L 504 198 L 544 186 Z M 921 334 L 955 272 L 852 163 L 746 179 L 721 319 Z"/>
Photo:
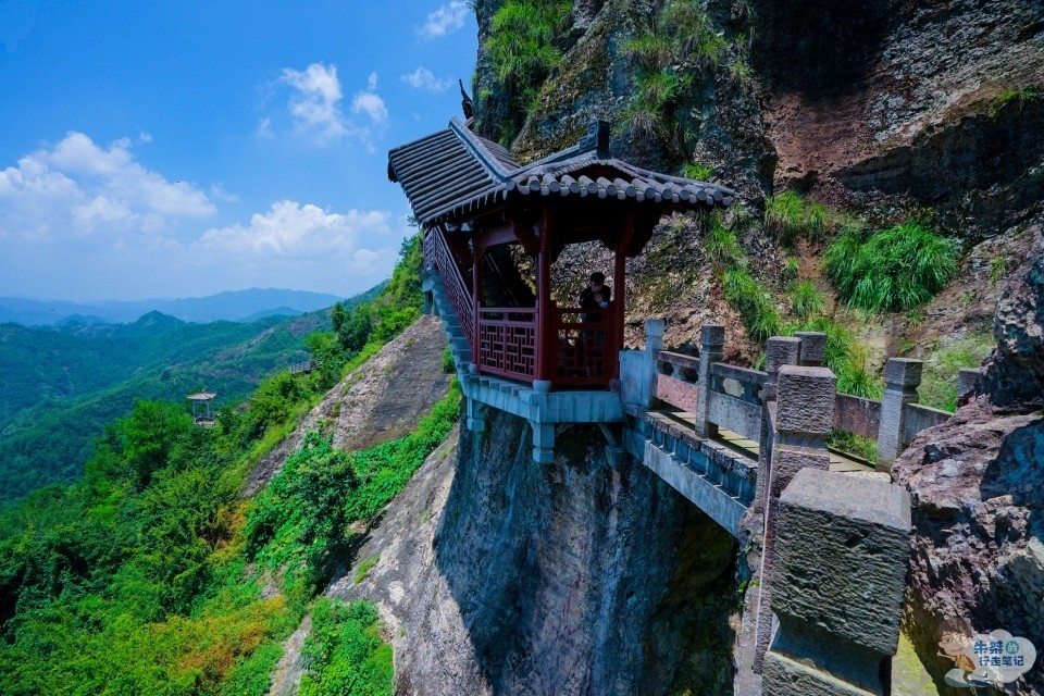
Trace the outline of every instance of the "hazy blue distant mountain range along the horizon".
<path fill-rule="evenodd" d="M 152 300 L 71 302 L 0 297 L 0 323 L 23 326 L 126 324 L 149 312 L 162 312 L 186 322 L 252 322 L 265 316 L 297 316 L 345 298 L 325 293 L 251 288 L 207 297 Z"/>

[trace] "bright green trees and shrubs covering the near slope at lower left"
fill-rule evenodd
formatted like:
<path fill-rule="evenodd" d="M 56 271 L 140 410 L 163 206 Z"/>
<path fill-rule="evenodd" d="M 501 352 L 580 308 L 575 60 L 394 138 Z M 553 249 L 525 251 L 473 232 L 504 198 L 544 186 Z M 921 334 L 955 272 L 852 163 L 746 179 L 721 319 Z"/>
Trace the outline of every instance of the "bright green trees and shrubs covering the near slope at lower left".
<path fill-rule="evenodd" d="M 420 304 L 410 249 L 372 307 L 374 336 Z M 377 347 L 326 359 L 344 372 Z M 389 694 L 390 649 L 372 607 L 313 598 L 350 524 L 391 500 L 449 431 L 460 393 L 415 433 L 363 452 L 311 433 L 269 488 L 241 499 L 258 459 L 325 380 L 322 369 L 277 374 L 209 428 L 181 402 L 138 402 L 105 430 L 79 481 L 0 512 L 0 694 L 261 696 L 309 610 L 316 637 L 302 693 Z"/>

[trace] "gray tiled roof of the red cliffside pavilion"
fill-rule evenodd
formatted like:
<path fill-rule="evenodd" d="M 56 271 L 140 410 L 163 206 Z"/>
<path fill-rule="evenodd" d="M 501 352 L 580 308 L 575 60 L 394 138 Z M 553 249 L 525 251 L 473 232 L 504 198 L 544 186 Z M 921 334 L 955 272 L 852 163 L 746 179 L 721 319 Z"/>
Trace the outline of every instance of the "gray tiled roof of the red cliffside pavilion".
<path fill-rule="evenodd" d="M 609 157 L 606 128 L 592 124 L 579 145 L 520 165 L 508 150 L 453 119 L 445 130 L 388 152 L 388 178 L 402 186 L 424 226 L 461 221 L 521 196 L 630 198 L 681 209 L 724 208 L 735 199 L 728 188 Z"/>

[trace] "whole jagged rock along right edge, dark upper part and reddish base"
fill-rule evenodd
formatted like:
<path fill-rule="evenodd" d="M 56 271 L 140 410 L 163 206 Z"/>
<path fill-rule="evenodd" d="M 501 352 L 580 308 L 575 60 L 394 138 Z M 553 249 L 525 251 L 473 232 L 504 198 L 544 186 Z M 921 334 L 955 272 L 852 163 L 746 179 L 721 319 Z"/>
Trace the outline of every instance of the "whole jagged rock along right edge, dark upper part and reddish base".
<path fill-rule="evenodd" d="M 947 619 L 1044 645 L 1044 243 L 1032 252 L 997 302 L 979 394 L 893 470 L 913 500 L 907 633 L 937 683 L 949 668 L 935 657 Z M 1018 693 L 1044 693 L 1044 672 L 1030 671 Z"/>

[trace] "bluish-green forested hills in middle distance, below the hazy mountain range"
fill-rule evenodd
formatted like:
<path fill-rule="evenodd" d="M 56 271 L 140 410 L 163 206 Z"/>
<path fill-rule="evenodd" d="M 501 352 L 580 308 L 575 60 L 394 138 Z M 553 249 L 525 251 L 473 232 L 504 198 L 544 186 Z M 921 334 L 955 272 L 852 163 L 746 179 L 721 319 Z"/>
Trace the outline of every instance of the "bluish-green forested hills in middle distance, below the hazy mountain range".
<path fill-rule="evenodd" d="M 371 301 L 377 286 L 344 303 Z M 0 325 L 0 500 L 79 475 L 104 424 L 139 399 L 183 399 L 200 389 L 217 403 L 308 356 L 326 312 L 244 324 L 186 323 L 149 312 L 130 324 L 60 328 Z M 61 432 L 62 437 L 54 437 Z"/>

